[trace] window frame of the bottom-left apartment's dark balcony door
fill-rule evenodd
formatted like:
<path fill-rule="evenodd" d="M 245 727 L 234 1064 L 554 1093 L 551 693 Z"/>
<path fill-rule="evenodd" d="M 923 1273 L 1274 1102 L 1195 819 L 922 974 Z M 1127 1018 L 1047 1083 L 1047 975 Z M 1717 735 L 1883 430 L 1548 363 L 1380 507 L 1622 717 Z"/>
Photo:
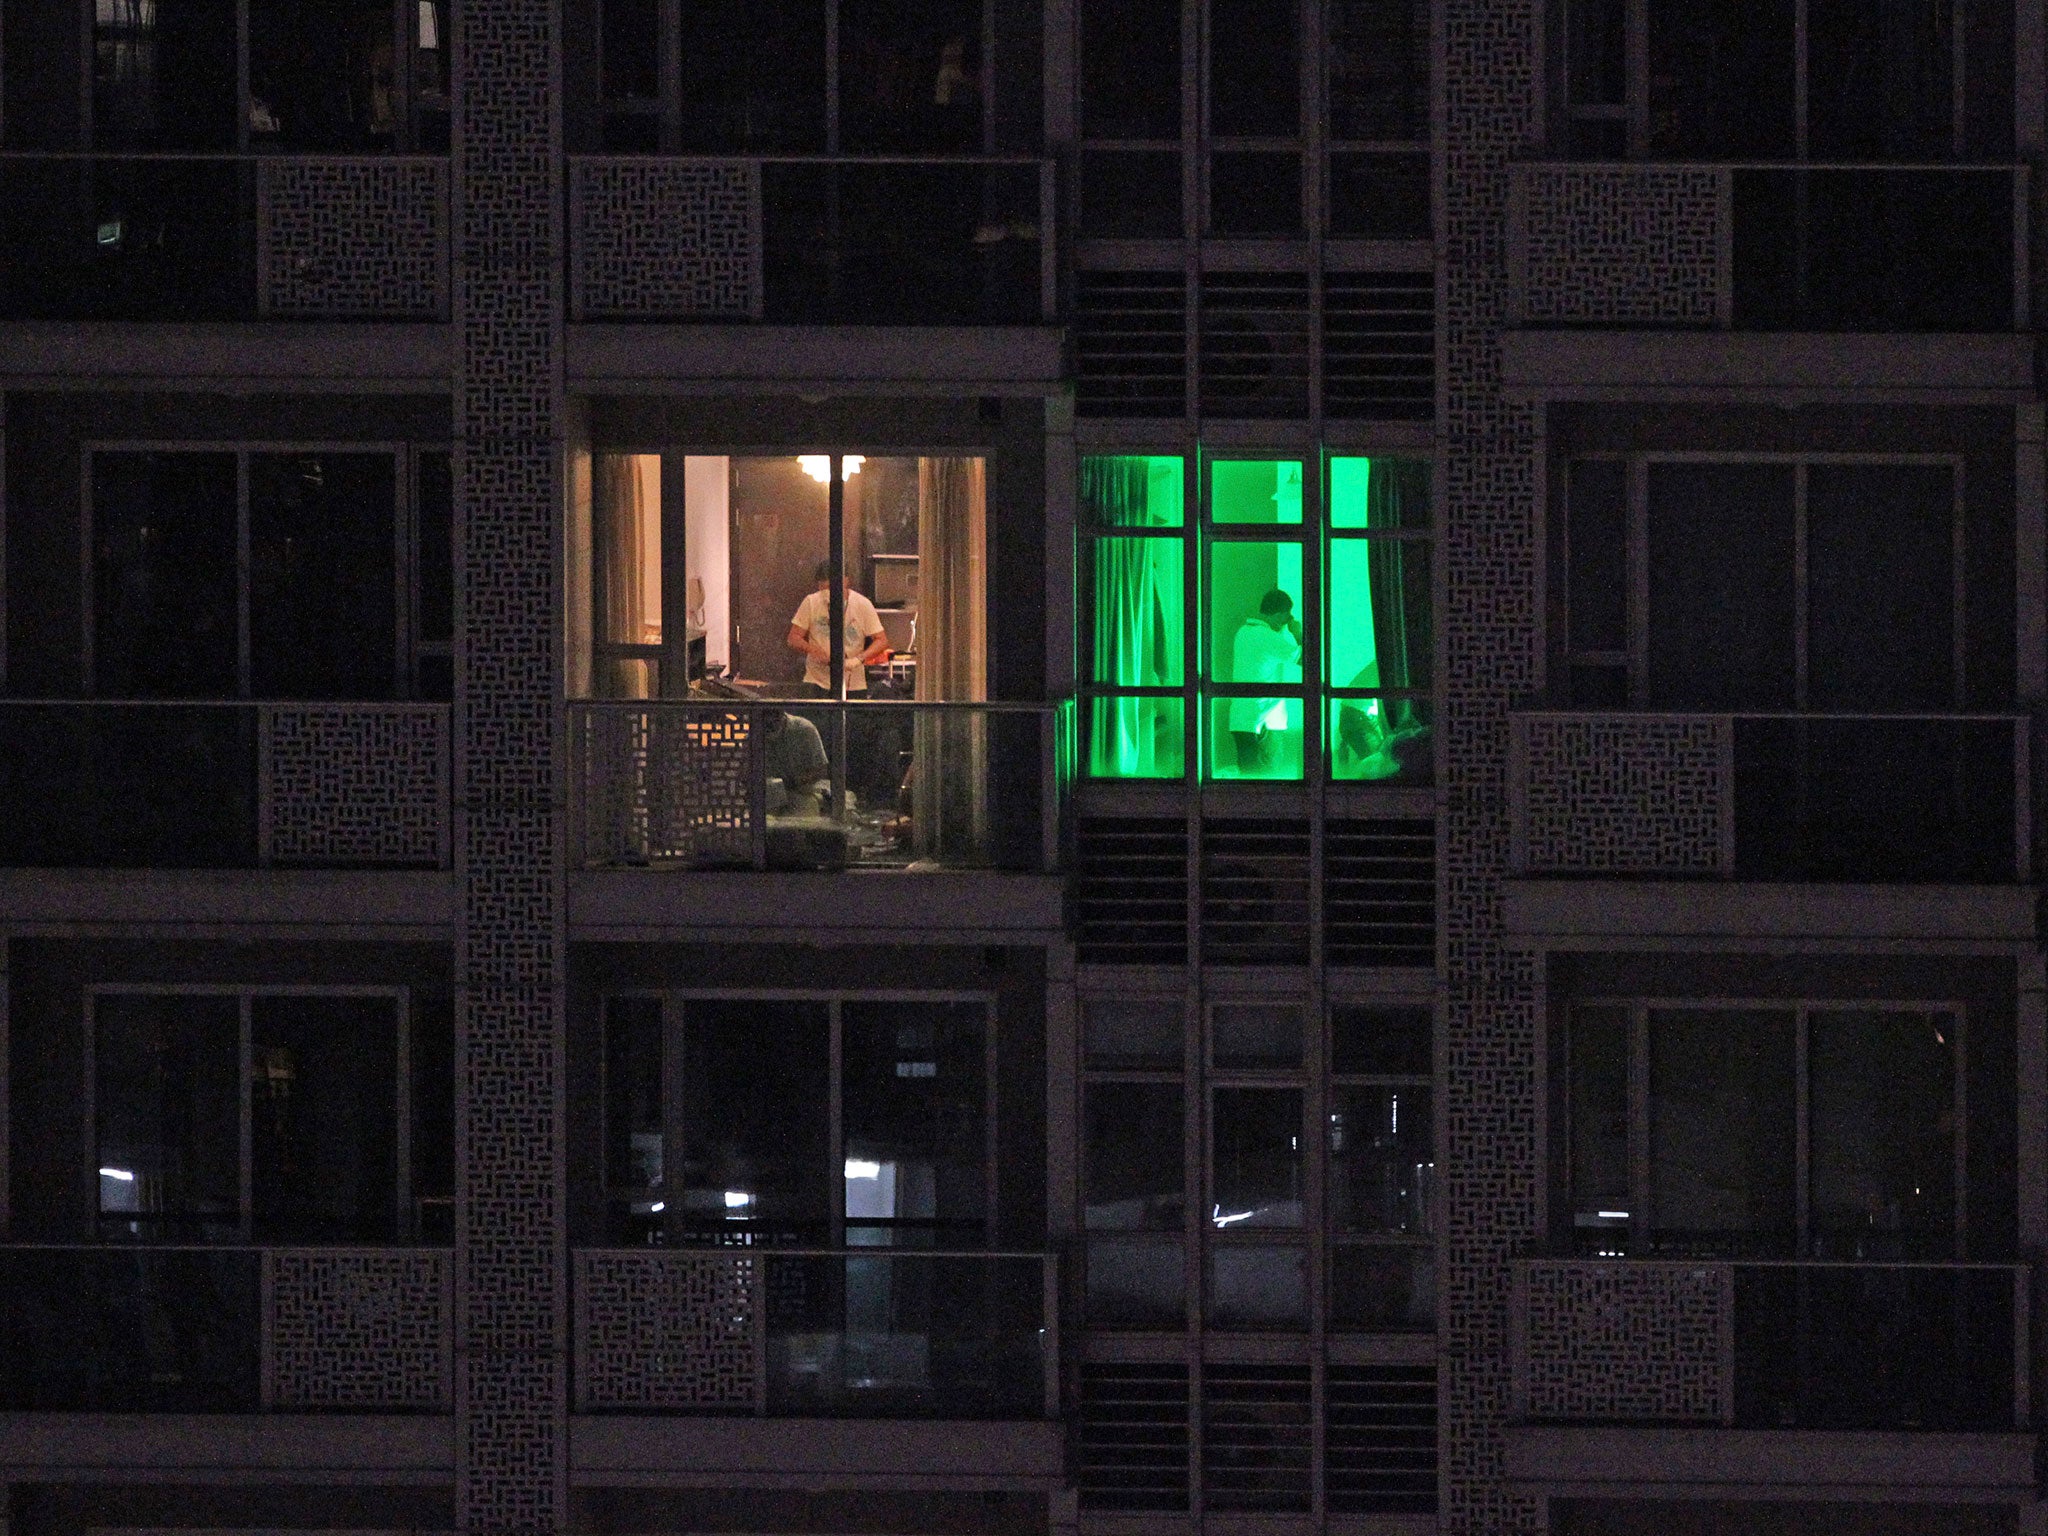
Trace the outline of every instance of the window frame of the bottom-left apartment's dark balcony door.
<path fill-rule="evenodd" d="M 238 1104 L 240 1133 L 236 1147 L 238 1194 L 236 1194 L 236 1237 L 207 1243 L 205 1239 L 154 1239 L 141 1233 L 109 1237 L 109 1217 L 100 1208 L 98 1165 L 100 1165 L 100 1092 L 98 1092 L 98 999 L 100 997 L 233 997 L 238 1010 L 236 1063 L 238 1063 Z M 104 981 L 84 989 L 84 1169 L 80 1180 L 84 1194 L 86 1225 L 94 1233 L 94 1243 L 145 1245 L 145 1247 L 250 1247 L 254 1235 L 254 1010 L 262 997 L 383 997 L 391 1004 L 393 1026 L 393 1169 L 391 1169 L 391 1243 L 406 1245 L 420 1241 L 426 1198 L 414 1198 L 414 1051 L 412 1051 L 412 997 L 410 985 L 231 985 L 231 983 L 154 983 L 154 981 Z M 141 1225 L 141 1223 L 137 1223 Z M 291 1243 L 264 1243 L 264 1247 L 305 1247 L 305 1239 Z M 348 1241 L 324 1243 L 324 1247 L 346 1247 Z"/>

